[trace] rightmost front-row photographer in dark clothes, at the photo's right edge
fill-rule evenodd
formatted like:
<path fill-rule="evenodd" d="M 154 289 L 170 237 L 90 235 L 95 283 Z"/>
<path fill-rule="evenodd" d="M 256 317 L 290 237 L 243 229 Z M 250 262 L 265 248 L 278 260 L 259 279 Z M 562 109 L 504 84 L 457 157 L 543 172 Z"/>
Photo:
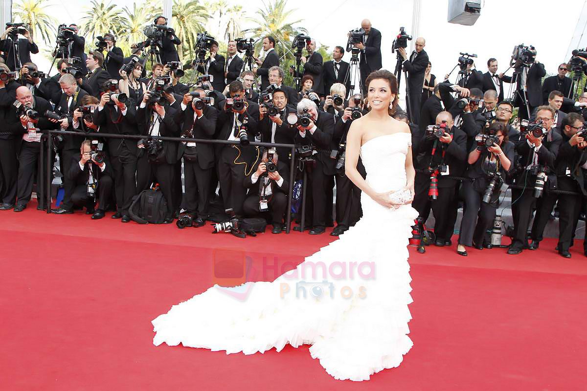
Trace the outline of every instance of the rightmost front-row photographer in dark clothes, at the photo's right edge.
<path fill-rule="evenodd" d="M 544 194 L 532 224 L 532 243 L 529 249 L 538 249 L 544 228 L 550 219 L 552 208 L 558 201 L 559 236 L 557 250 L 562 257 L 571 258 L 569 247 L 574 236 L 576 220 L 581 212 L 581 195 L 584 194 L 583 173 L 578 167 L 585 163 L 585 138 L 583 137 L 583 118 L 581 115 L 571 113 L 564 118 L 562 124 L 562 143 L 554 164 L 556 188 L 560 191 L 575 192 L 579 195 L 552 192 Z"/>

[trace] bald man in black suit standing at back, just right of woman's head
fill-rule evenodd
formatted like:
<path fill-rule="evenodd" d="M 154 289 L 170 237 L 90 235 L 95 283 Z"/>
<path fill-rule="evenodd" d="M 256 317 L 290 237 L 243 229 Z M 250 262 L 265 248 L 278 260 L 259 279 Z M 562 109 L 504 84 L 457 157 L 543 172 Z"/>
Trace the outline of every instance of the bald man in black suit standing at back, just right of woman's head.
<path fill-rule="evenodd" d="M 415 49 L 408 58 L 406 49 L 400 47 L 397 53 L 402 56 L 403 68 L 407 72 L 407 114 L 410 121 L 418 123 L 420 120 L 420 100 L 422 98 L 422 86 L 424 85 L 424 73 L 428 66 L 428 54 L 424 50 L 426 40 L 424 38 L 416 39 Z"/>

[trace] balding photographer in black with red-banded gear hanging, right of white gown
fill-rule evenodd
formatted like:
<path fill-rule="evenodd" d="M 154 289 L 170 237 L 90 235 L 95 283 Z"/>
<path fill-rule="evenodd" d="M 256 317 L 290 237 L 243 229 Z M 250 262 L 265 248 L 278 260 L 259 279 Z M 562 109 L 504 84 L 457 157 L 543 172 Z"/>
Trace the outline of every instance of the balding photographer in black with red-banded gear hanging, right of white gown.
<path fill-rule="evenodd" d="M 434 212 L 436 246 L 450 245 L 453 235 L 454 213 L 458 180 L 451 176 L 463 176 L 467 159 L 467 135 L 453 126 L 453 116 L 441 111 L 436 125 L 426 129 L 421 138 L 416 165 L 414 201 L 412 206 L 423 219 L 430 208 Z M 449 176 L 450 175 L 450 176 Z"/>

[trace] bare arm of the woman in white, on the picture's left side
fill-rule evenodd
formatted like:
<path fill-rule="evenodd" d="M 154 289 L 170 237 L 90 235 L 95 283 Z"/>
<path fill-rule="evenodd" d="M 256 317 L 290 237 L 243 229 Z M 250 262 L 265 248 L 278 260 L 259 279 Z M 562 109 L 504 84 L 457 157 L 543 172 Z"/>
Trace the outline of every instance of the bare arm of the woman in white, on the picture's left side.
<path fill-rule="evenodd" d="M 392 192 L 375 192 L 375 190 L 373 190 L 373 188 L 367 184 L 365 179 L 363 179 L 363 176 L 361 176 L 357 170 L 357 162 L 359 162 L 359 152 L 362 139 L 362 132 L 360 130 L 359 121 L 360 120 L 353 121 L 346 136 L 345 174 L 353 183 L 355 183 L 357 188 L 361 189 L 361 191 L 365 192 L 366 195 L 368 195 L 380 205 L 386 206 L 387 208 L 397 206 L 389 200 L 389 194 Z"/>

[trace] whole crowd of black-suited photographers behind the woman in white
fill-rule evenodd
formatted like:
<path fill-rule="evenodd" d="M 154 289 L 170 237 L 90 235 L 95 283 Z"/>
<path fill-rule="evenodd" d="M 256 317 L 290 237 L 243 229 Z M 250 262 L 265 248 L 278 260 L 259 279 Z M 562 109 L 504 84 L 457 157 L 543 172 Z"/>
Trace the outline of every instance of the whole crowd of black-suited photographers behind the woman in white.
<path fill-rule="evenodd" d="M 362 84 L 382 66 L 381 34 L 369 21 L 349 32 L 350 63 L 342 60 L 342 46 L 333 49 L 332 61 L 323 62 L 315 41 L 299 35 L 292 45 L 296 66 L 287 70 L 279 66 L 271 36 L 263 38 L 265 56 L 259 59 L 252 39 L 228 42 L 223 56 L 214 38 L 200 34 L 197 59 L 183 66 L 176 50 L 181 42 L 163 16 L 145 33 L 147 39 L 124 57 L 111 34 L 98 37 L 96 48 L 86 51 L 76 25 L 59 26 L 53 52 L 58 74 L 46 77 L 31 62 L 30 53 L 38 48 L 30 33 L 22 25 L 7 25 L 0 42 L 5 120 L 0 210 L 25 209 L 33 183 L 38 209 L 50 207 L 41 185 L 48 179 L 41 149 L 48 130 L 60 129 L 76 133 L 51 138 L 64 190 L 59 208 L 51 210 L 58 215 L 85 208 L 92 219 L 101 219 L 114 210 L 112 218 L 126 223 L 133 200 L 155 186 L 166 204 L 164 223 L 179 218 L 178 226 L 203 226 L 220 206 L 230 210 L 234 224 L 217 230 L 234 229 L 241 217 L 262 217 L 273 233 L 281 233 L 294 169 L 296 185 L 302 178 L 306 182 L 304 217 L 310 234 L 321 234 L 336 222 L 331 234 L 338 236 L 359 220 L 360 191 L 345 176 L 344 163 L 350 124 L 369 110 Z M 396 76 L 405 74 L 407 83 L 407 112 L 398 110 L 394 117 L 412 130 L 413 207 L 420 216 L 411 243 L 420 252 L 426 251 L 425 243 L 451 245 L 462 206 L 457 252 L 466 256 L 466 247 L 497 246 L 499 240 L 490 233 L 494 226 L 501 233 L 496 211 L 506 183 L 512 188 L 514 218 L 508 254 L 538 249 L 556 205 L 557 250 L 571 257 L 569 247 L 586 205 L 587 141 L 582 135 L 587 94 L 573 100 L 578 80 L 566 74 L 571 67 L 575 73 L 587 68 L 584 53 L 573 53 L 573 60 L 544 83 L 544 65 L 535 60 L 533 47 L 516 48 L 513 76 L 498 73 L 495 59 L 483 73 L 475 69 L 474 55 L 461 53 L 457 81 L 451 83 L 449 74 L 442 82 L 431 75 L 423 38 L 410 55 L 407 40 L 411 36 L 402 28 L 393 43 Z M 198 76 L 183 84 L 188 68 Z M 294 75 L 294 87 L 283 84 L 285 72 Z M 504 82 L 512 86 L 510 95 Z M 516 107 L 521 121 L 514 127 Z M 100 132 L 130 137 L 101 138 Z M 251 141 L 278 146 L 253 147 Z M 294 144 L 295 159 L 290 148 L 279 144 Z M 359 171 L 365 176 L 360 161 Z M 298 219 L 299 192 L 294 186 Z M 433 231 L 424 226 L 431 210 Z"/>

